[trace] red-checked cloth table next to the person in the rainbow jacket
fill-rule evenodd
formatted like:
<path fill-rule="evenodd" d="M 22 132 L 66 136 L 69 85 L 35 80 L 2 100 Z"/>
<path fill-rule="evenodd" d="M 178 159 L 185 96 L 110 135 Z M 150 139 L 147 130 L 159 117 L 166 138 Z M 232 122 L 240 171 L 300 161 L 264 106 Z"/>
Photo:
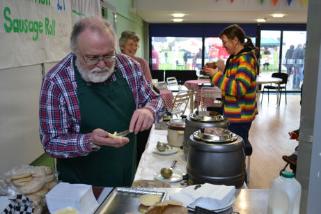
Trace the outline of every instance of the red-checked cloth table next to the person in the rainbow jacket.
<path fill-rule="evenodd" d="M 194 107 L 198 108 L 201 101 L 203 107 L 213 106 L 215 99 L 221 97 L 220 89 L 212 86 L 210 79 L 188 80 L 184 85 L 195 94 L 192 109 L 194 109 Z M 203 89 L 201 86 L 204 86 Z M 202 93 L 204 95 L 203 97 Z"/>

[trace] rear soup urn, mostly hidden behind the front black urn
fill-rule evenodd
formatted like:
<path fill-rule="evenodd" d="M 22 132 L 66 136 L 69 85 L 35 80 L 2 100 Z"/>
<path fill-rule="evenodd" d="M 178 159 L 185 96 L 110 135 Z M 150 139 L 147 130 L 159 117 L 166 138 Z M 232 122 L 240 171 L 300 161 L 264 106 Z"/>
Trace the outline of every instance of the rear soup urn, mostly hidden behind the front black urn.
<path fill-rule="evenodd" d="M 213 111 L 196 111 L 190 114 L 185 121 L 185 132 L 184 132 L 184 157 L 187 160 L 188 151 L 190 147 L 190 136 L 197 130 L 201 128 L 209 127 L 228 127 L 229 122 L 224 118 L 223 115 L 220 115 Z"/>

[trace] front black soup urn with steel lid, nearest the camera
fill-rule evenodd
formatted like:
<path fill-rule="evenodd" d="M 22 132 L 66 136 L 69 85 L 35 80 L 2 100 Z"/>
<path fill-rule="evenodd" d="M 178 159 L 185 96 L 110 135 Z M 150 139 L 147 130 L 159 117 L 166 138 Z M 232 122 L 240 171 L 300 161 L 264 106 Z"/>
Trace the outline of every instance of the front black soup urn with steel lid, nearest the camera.
<path fill-rule="evenodd" d="M 205 128 L 190 136 L 187 159 L 189 184 L 242 187 L 245 180 L 243 139 L 223 128 Z"/>

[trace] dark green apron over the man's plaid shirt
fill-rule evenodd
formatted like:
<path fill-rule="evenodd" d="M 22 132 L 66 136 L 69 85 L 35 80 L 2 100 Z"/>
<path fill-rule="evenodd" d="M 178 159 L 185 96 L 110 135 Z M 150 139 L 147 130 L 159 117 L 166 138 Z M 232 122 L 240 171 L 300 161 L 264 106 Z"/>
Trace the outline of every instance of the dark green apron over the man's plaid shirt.
<path fill-rule="evenodd" d="M 76 69 L 81 113 L 80 132 L 102 128 L 110 133 L 129 128 L 135 102 L 127 81 L 116 70 L 116 81 L 88 85 Z M 88 156 L 58 159 L 59 179 L 94 186 L 131 186 L 136 171 L 136 136 L 121 148 L 103 146 Z"/>

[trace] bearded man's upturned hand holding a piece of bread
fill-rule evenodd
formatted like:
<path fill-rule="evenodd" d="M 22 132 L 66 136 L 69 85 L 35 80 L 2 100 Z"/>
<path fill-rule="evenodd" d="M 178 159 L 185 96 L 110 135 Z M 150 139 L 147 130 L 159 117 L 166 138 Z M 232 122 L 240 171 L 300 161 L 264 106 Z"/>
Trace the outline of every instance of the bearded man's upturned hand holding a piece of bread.
<path fill-rule="evenodd" d="M 103 129 L 93 130 L 91 133 L 91 139 L 97 146 L 110 146 L 115 148 L 122 147 L 129 143 L 129 139 L 127 137 L 115 137 L 113 134 Z"/>

